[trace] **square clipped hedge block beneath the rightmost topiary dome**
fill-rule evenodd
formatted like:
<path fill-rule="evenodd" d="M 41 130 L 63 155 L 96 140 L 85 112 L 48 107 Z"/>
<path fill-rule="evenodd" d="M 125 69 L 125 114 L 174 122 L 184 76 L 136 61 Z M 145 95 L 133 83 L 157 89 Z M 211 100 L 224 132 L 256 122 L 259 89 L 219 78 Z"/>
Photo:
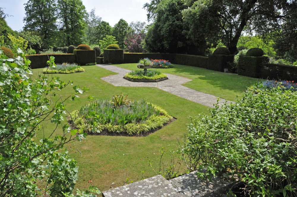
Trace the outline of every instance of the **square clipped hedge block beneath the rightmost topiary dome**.
<path fill-rule="evenodd" d="M 268 63 L 268 57 L 240 56 L 238 60 L 237 74 L 258 78 L 261 63 Z"/>

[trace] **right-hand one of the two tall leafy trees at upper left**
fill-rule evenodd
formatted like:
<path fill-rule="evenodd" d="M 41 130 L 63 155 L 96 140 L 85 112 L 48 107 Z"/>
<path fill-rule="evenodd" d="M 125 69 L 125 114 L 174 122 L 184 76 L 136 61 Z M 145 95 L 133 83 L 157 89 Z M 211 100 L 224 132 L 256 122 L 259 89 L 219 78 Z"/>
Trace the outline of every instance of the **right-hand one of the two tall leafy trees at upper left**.
<path fill-rule="evenodd" d="M 81 0 L 58 0 L 59 27 L 65 37 L 65 45 L 81 44 L 84 35 L 86 8 Z"/>

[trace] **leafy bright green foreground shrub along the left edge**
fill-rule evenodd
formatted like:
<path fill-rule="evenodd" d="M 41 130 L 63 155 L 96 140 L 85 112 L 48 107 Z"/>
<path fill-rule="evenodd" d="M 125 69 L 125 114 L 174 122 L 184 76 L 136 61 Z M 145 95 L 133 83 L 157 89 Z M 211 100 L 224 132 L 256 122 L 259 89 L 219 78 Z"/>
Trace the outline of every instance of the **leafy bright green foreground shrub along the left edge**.
<path fill-rule="evenodd" d="M 65 83 L 58 77 L 48 79 L 45 75 L 38 75 L 33 81 L 29 77 L 30 61 L 20 49 L 18 53 L 13 60 L 0 51 L 0 196 L 70 196 L 78 166 L 63 147 L 67 142 L 81 141 L 86 134 L 64 124 L 64 103 L 85 89 L 73 86 L 68 97 L 54 99 L 57 90 L 72 82 Z M 54 65 L 53 58 L 48 63 Z M 40 136 L 36 140 L 42 123 L 48 120 L 56 125 L 49 134 L 53 137 Z M 57 128 L 59 135 L 55 136 Z M 91 190 L 99 193 L 95 188 Z M 89 192 L 77 193 L 86 196 Z"/>

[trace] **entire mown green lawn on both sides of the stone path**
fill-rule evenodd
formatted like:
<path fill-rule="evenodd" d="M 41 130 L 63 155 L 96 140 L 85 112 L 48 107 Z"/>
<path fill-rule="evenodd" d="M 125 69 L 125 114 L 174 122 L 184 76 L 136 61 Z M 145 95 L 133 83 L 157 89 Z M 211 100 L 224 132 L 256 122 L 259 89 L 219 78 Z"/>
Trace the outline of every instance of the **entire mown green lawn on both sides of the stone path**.
<path fill-rule="evenodd" d="M 135 65 L 122 64 L 117 66 L 133 69 L 136 67 Z M 79 179 L 77 187 L 80 189 L 84 190 L 89 185 L 97 185 L 100 190 L 104 191 L 111 187 L 121 186 L 127 178 L 138 181 L 141 178 L 156 175 L 148 165 L 148 161 L 151 160 L 153 166 L 158 169 L 159 149 L 162 147 L 165 150 L 164 161 L 170 161 L 169 151 L 177 150 L 176 140 L 186 133 L 189 116 L 209 113 L 206 106 L 180 98 L 158 88 L 114 87 L 100 78 L 115 73 L 98 66 L 83 66 L 83 68 L 86 72 L 55 74 L 64 81 L 73 80 L 74 85 L 90 88 L 88 92 L 80 96 L 80 99 L 66 102 L 69 112 L 88 103 L 88 96 L 93 96 L 95 99 L 111 98 L 113 94 L 123 93 L 128 94 L 130 99 L 146 99 L 146 101 L 159 105 L 177 120 L 146 137 L 87 136 L 87 139 L 83 142 L 67 144 L 69 154 L 78 161 Z M 42 69 L 34 69 L 33 78 L 40 72 L 42 72 Z M 164 72 L 192 79 L 192 82 L 185 84 L 189 88 L 230 100 L 234 100 L 236 94 L 241 94 L 247 86 L 256 81 L 249 77 L 181 65 L 175 65 L 171 69 L 164 69 Z M 72 91 L 72 86 L 69 86 L 59 93 L 65 97 Z M 43 126 L 45 133 L 38 133 L 37 138 L 49 135 L 54 129 L 54 125 L 49 122 Z M 59 132 L 61 130 L 56 131 L 56 134 L 59 134 Z M 82 153 L 82 156 L 78 150 Z M 185 168 L 182 167 L 182 169 Z M 143 177 L 142 171 L 144 171 Z M 92 180 L 91 183 L 88 182 L 90 179 Z"/>

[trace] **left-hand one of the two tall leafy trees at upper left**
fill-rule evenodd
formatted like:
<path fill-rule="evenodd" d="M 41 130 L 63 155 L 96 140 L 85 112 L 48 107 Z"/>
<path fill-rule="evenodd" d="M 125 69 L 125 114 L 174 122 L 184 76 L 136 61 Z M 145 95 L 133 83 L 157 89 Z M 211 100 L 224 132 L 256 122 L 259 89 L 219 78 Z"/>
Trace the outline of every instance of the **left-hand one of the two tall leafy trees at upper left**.
<path fill-rule="evenodd" d="M 56 0 L 29 0 L 25 5 L 24 30 L 39 31 L 44 48 L 53 42 L 56 25 Z"/>

